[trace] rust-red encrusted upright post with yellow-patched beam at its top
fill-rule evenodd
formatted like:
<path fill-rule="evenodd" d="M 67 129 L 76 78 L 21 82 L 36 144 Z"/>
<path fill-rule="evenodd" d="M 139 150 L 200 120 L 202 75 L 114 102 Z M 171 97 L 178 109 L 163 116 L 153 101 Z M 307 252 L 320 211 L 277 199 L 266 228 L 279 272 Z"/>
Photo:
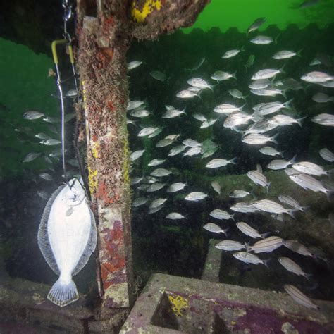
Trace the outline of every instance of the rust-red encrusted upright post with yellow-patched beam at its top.
<path fill-rule="evenodd" d="M 102 316 L 112 310 L 119 318 L 130 307 L 132 296 L 126 51 L 132 37 L 156 39 L 161 33 L 191 25 L 208 2 L 77 1 L 76 54 L 89 191 L 98 218 Z"/>

